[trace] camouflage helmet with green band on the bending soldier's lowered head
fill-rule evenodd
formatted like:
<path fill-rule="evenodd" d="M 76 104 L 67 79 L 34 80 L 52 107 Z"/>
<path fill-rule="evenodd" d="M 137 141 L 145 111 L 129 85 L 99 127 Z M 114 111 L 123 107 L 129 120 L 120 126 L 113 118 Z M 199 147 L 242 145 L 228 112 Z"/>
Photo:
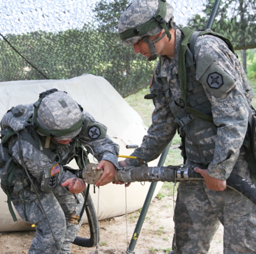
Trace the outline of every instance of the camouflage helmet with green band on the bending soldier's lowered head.
<path fill-rule="evenodd" d="M 34 103 L 33 124 L 42 136 L 69 140 L 79 134 L 83 126 L 82 109 L 66 92 L 57 89 L 39 94 Z"/>

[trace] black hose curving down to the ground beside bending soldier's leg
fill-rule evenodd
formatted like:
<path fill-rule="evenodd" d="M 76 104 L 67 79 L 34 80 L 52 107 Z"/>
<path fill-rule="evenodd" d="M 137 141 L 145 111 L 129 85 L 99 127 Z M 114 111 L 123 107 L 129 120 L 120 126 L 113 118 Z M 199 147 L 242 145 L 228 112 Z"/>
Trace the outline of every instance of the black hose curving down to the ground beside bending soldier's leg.
<path fill-rule="evenodd" d="M 86 195 L 86 189 L 83 192 Z M 83 238 L 80 236 L 76 236 L 74 239 L 73 244 L 81 246 L 81 247 L 94 247 L 100 240 L 100 232 L 99 232 L 99 224 L 98 224 L 98 217 L 95 211 L 92 198 L 90 194 L 88 194 L 87 204 L 85 207 L 85 212 L 88 218 L 88 224 L 90 228 L 90 238 Z"/>

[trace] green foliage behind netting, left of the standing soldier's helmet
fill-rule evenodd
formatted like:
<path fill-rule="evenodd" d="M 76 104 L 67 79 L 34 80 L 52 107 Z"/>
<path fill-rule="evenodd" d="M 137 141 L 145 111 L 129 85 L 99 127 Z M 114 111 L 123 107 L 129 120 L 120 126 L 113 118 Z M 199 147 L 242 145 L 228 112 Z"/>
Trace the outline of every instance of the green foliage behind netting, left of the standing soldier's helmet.
<path fill-rule="evenodd" d="M 128 2 L 97 2 L 94 20 L 81 30 L 8 34 L 6 39 L 20 54 L 0 40 L 0 81 L 69 79 L 90 73 L 104 77 L 123 97 L 146 87 L 156 62 L 134 54 L 118 36 L 118 20 Z"/>

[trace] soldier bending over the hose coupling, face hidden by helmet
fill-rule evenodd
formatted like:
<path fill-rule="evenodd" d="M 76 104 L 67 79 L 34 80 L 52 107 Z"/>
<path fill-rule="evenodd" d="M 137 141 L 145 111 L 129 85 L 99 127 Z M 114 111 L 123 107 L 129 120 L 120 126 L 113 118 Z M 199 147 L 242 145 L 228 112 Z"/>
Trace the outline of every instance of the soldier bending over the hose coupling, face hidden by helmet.
<path fill-rule="evenodd" d="M 78 143 L 90 147 L 88 151 L 100 161 L 98 169 L 104 169 L 96 185 L 107 184 L 118 167 L 119 146 L 106 135 L 104 125 L 68 94 L 55 89 L 34 105 L 13 107 L 3 116 L 1 128 L 1 187 L 6 193 L 9 189 L 20 217 L 35 224 L 29 253 L 71 253 L 70 243 L 83 218 L 79 224 L 67 220 L 74 211 L 80 214 L 84 201 L 81 192 L 86 186 L 64 165 L 78 156 Z M 6 141 L 10 129 L 15 134 Z M 14 171 L 10 180 L 11 165 Z"/>

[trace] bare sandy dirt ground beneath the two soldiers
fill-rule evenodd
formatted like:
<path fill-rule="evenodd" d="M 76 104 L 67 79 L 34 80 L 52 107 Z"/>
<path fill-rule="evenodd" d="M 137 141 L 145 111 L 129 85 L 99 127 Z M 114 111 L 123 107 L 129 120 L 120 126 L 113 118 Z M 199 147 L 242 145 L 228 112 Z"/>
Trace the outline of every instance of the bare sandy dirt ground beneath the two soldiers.
<path fill-rule="evenodd" d="M 174 233 L 173 195 L 167 192 L 162 188 L 161 195 L 151 201 L 138 240 L 133 248 L 134 253 L 168 253 L 171 250 Z M 100 240 L 98 245 L 85 248 L 71 244 L 72 254 L 127 253 L 139 214 L 139 211 L 135 211 L 120 217 L 99 221 Z M 0 253 L 28 253 L 34 233 L 35 231 L 0 233 Z M 88 224 L 82 225 L 78 235 L 85 238 L 90 237 Z M 209 253 L 223 253 L 222 236 L 223 228 L 220 227 L 213 237 Z"/>

